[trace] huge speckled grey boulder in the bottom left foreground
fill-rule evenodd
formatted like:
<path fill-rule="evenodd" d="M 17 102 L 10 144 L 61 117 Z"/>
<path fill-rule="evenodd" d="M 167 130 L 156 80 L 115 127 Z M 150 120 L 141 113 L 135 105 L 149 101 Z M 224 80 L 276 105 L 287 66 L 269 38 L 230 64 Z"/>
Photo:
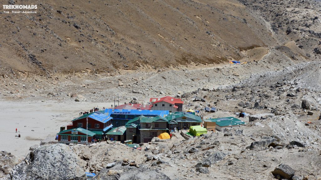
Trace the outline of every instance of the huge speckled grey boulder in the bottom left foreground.
<path fill-rule="evenodd" d="M 8 180 L 86 180 L 80 158 L 65 144 L 40 147 L 7 176 Z"/>

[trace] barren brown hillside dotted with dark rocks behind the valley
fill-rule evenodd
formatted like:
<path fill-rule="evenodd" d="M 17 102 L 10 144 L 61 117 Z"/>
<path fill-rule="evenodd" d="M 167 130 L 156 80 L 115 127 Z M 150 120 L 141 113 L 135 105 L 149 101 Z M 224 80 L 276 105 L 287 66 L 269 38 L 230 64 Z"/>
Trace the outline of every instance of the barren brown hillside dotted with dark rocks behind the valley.
<path fill-rule="evenodd" d="M 4 3 L 6 4 L 6 3 Z M 8 4 L 8 3 L 7 3 Z M 1 69 L 46 74 L 240 59 L 274 44 L 235 0 L 15 1 L 37 14 L 1 14 Z"/>

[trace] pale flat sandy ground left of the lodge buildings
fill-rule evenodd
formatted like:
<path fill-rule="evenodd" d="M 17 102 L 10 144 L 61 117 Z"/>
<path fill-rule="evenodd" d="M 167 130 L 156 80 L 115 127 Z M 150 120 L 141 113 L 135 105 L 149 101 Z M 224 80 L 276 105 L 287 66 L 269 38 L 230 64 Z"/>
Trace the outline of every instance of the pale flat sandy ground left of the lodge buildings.
<path fill-rule="evenodd" d="M 82 110 L 93 107 L 109 108 L 114 102 L 17 102 L 0 100 L 0 151 L 5 150 L 24 158 L 30 146 L 40 144 L 40 139 L 55 141 L 61 126 L 79 116 Z M 119 103 L 121 104 L 121 103 Z M 15 137 L 15 129 L 21 137 Z M 34 130 L 34 131 L 32 131 Z"/>

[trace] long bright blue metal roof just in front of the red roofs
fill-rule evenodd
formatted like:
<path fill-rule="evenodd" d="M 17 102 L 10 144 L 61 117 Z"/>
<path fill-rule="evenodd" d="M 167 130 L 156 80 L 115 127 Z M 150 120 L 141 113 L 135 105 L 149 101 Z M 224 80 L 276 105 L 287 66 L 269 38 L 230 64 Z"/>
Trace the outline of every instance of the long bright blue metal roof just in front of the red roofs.
<path fill-rule="evenodd" d="M 125 110 L 125 109 L 106 109 L 105 115 L 110 116 L 111 114 L 121 115 L 144 115 L 144 116 L 160 116 L 165 117 L 169 114 L 168 110 Z"/>

